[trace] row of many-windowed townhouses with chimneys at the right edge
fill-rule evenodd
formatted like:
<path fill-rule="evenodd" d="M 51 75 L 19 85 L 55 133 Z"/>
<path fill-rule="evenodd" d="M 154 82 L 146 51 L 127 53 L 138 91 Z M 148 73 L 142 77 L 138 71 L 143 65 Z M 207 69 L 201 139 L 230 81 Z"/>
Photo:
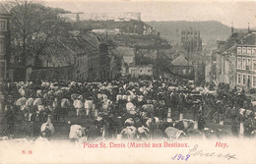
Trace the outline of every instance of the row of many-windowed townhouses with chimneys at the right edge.
<path fill-rule="evenodd" d="M 256 31 L 231 31 L 225 41 L 218 41 L 206 66 L 206 82 L 227 83 L 230 87 L 256 88 Z"/>

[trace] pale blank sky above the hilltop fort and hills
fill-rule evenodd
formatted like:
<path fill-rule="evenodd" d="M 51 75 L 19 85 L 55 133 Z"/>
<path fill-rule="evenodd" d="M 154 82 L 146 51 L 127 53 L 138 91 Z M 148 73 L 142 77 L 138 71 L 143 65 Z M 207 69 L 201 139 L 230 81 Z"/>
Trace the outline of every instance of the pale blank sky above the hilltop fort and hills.
<path fill-rule="evenodd" d="M 144 22 L 220 21 L 230 27 L 256 27 L 256 0 L 44 0 L 46 6 L 74 13 L 140 12 Z"/>

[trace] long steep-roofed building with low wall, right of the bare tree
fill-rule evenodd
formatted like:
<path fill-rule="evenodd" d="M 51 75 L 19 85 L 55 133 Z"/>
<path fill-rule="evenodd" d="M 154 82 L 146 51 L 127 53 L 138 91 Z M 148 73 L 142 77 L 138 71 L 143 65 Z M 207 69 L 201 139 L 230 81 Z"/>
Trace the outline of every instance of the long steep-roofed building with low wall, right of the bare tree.
<path fill-rule="evenodd" d="M 29 80 L 100 80 L 99 41 L 88 34 L 58 38 L 43 49 L 41 66 L 32 66 Z"/>

